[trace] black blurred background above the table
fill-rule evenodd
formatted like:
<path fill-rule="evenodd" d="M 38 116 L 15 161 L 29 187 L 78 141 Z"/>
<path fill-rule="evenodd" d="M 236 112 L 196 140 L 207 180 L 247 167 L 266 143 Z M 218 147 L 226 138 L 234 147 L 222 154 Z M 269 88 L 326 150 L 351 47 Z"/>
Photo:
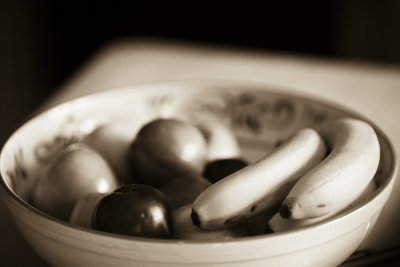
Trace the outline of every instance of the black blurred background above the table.
<path fill-rule="evenodd" d="M 400 63 L 400 1 L 0 0 L 0 145 L 95 49 L 160 37 Z"/>

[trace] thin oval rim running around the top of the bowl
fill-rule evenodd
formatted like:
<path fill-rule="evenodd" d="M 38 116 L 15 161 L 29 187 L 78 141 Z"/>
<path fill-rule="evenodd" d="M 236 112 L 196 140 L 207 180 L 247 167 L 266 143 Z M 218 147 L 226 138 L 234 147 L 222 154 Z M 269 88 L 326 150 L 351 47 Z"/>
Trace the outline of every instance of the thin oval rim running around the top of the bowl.
<path fill-rule="evenodd" d="M 326 99 L 321 96 L 316 96 L 312 95 L 309 93 L 303 93 L 295 90 L 290 90 L 290 89 L 295 89 L 293 87 L 287 87 L 287 86 L 280 86 L 276 84 L 268 84 L 268 83 L 261 83 L 261 82 L 254 82 L 254 81 L 232 81 L 232 80 L 210 80 L 210 79 L 192 79 L 192 80 L 166 80 L 166 81 L 153 81 L 153 82 L 142 82 L 142 83 L 135 83 L 135 84 L 127 84 L 123 86 L 117 86 L 117 87 L 112 87 L 112 88 L 107 88 L 99 92 L 95 93 L 88 93 L 79 97 L 75 97 L 73 99 L 69 99 L 66 101 L 63 101 L 59 104 L 56 104 L 54 106 L 50 106 L 46 108 L 43 111 L 33 113 L 31 116 L 27 117 L 25 121 L 23 121 L 20 126 L 6 139 L 4 142 L 3 147 L 1 148 L 0 151 L 0 162 L 2 160 L 3 152 L 8 145 L 9 141 L 16 135 L 17 132 L 22 131 L 26 125 L 28 125 L 32 120 L 35 120 L 37 117 L 44 116 L 45 114 L 48 114 L 50 112 L 53 112 L 56 109 L 60 109 L 65 105 L 69 105 L 70 103 L 74 102 L 84 102 L 84 101 L 92 101 L 93 98 L 104 98 L 107 95 L 113 95 L 116 92 L 123 92 L 125 90 L 149 90 L 149 88 L 143 88 L 143 87 L 152 87 L 152 86 L 160 86 L 160 85 L 168 85 L 168 86 L 173 86 L 173 85 L 182 85 L 182 84 L 187 84 L 187 85 L 201 85 L 201 86 L 217 86 L 213 88 L 213 90 L 218 90 L 221 92 L 224 91 L 243 91 L 243 92 L 255 92 L 255 93 L 266 93 L 266 94 L 275 94 L 278 96 L 282 96 L 284 98 L 295 98 L 301 101 L 307 101 L 307 102 L 312 102 L 312 103 L 318 103 L 323 106 L 328 106 L 329 108 L 335 109 L 335 110 L 340 110 L 343 111 L 346 114 L 349 114 L 350 116 L 357 117 L 361 120 L 364 120 L 368 123 L 371 124 L 371 126 L 374 128 L 374 130 L 377 132 L 378 136 L 380 136 L 380 140 L 386 143 L 386 146 L 388 147 L 388 151 L 390 153 L 390 158 L 392 159 L 392 164 L 391 164 L 391 169 L 390 172 L 387 174 L 387 179 L 385 180 L 384 183 L 380 184 L 377 189 L 373 193 L 369 195 L 367 200 L 363 201 L 362 203 L 359 203 L 358 205 L 355 205 L 354 207 L 342 211 L 339 214 L 323 220 L 321 222 L 309 225 L 309 226 L 304 226 L 296 229 L 291 229 L 291 230 L 286 230 L 283 232 L 275 232 L 275 233 L 269 233 L 265 235 L 255 235 L 255 236 L 246 236 L 246 237 L 237 237 L 234 239 L 230 240 L 218 240 L 218 241 L 210 241 L 210 240 L 182 240 L 182 239 L 158 239 L 158 238 L 147 238 L 147 237 L 136 237 L 136 236 L 127 236 L 127 235 L 120 235 L 120 234 L 114 234 L 114 233 L 108 233 L 108 232 L 103 232 L 91 228 L 85 228 L 82 226 L 77 226 L 73 225 L 67 221 L 63 221 L 61 219 L 55 218 L 51 215 L 46 214 L 45 212 L 40 211 L 39 209 L 35 208 L 28 202 L 24 201 L 21 197 L 19 197 L 9 186 L 5 183 L 4 177 L 3 177 L 3 171 L 0 173 L 0 196 L 3 196 L 4 198 L 7 198 L 11 200 L 13 203 L 15 203 L 19 208 L 24 209 L 25 211 L 34 214 L 35 216 L 38 216 L 39 218 L 46 220 L 49 223 L 55 224 L 57 226 L 60 226 L 62 228 L 65 228 L 68 231 L 77 231 L 78 233 L 89 233 L 91 235 L 95 235 L 98 237 L 105 237 L 105 238 L 112 238 L 112 239 L 119 239 L 119 240 L 125 240 L 125 241 L 132 241 L 132 242 L 147 242 L 147 243 L 154 243 L 154 244 L 218 244 L 218 245 L 223 245 L 223 244 L 236 244 L 236 243 L 241 243 L 241 242 L 248 242 L 248 241 L 258 241 L 258 240 L 263 240 L 266 238 L 269 239 L 275 239 L 279 238 L 281 236 L 287 236 L 293 233 L 303 233 L 306 231 L 309 231 L 310 229 L 313 228 L 320 228 L 320 227 L 325 227 L 327 225 L 335 224 L 338 223 L 340 219 L 346 218 L 351 216 L 352 214 L 355 214 L 356 212 L 361 211 L 362 209 L 367 208 L 368 205 L 372 205 L 371 202 L 373 202 L 375 199 L 379 198 L 381 195 L 383 195 L 384 191 L 390 190 L 390 192 L 393 189 L 393 184 L 394 180 L 398 171 L 398 161 L 397 161 L 397 154 L 394 149 L 392 141 L 389 139 L 387 134 L 373 121 L 371 121 L 368 117 L 366 117 L 363 114 L 358 113 L 357 111 L 341 104 L 334 102 L 332 100 Z M 224 85 L 222 87 L 221 85 Z M 240 87 L 242 86 L 242 87 Z M 244 86 L 244 87 L 243 87 Z M 240 87 L 240 88 L 239 88 Z M 151 88 L 151 90 L 156 90 L 157 88 Z M 158 88 L 159 90 L 159 88 Z M 168 92 L 171 89 L 166 89 L 166 92 Z M 178 89 L 181 90 L 181 89 Z M 188 86 L 184 90 L 197 90 Z M 172 91 L 177 91 L 177 89 L 172 89 Z M 389 194 L 390 194 L 389 192 Z M 8 208 L 8 207 L 7 207 Z"/>

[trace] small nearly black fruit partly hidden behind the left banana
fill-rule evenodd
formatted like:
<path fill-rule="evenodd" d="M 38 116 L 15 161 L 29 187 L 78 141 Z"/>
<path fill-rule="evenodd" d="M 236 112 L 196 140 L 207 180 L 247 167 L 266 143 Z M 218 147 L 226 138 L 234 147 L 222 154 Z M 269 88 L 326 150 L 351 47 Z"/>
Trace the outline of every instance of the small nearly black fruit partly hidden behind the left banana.
<path fill-rule="evenodd" d="M 204 170 L 204 177 L 215 183 L 226 176 L 246 167 L 248 163 L 243 159 L 220 159 L 209 162 Z"/>

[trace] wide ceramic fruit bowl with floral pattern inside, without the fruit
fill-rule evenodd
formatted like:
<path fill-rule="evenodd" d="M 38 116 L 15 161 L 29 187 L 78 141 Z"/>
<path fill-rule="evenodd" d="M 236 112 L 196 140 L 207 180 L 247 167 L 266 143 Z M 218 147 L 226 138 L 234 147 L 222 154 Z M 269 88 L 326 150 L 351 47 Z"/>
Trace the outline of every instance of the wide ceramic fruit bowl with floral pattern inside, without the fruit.
<path fill-rule="evenodd" d="M 389 198 L 396 172 L 390 140 L 370 121 L 381 149 L 376 189 L 361 203 L 311 226 L 220 241 L 155 239 L 75 226 L 31 204 L 46 164 L 96 126 L 128 121 L 126 131 L 134 135 L 154 118 L 190 119 L 202 113 L 232 125 L 250 163 L 302 127 L 339 117 L 368 121 L 328 101 L 252 83 L 181 81 L 116 88 L 63 103 L 22 125 L 1 152 L 1 198 L 27 242 L 54 266 L 337 266 L 356 251 Z"/>

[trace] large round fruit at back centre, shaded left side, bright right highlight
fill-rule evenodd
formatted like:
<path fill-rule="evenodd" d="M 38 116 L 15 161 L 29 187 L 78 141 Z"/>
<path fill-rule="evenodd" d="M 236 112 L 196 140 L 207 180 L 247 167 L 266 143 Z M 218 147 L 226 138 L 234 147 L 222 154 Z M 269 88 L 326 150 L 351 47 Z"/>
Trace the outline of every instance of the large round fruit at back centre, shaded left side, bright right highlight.
<path fill-rule="evenodd" d="M 156 119 L 141 128 L 129 157 L 137 179 L 158 186 L 176 177 L 200 174 L 207 158 L 207 142 L 192 124 Z"/>

